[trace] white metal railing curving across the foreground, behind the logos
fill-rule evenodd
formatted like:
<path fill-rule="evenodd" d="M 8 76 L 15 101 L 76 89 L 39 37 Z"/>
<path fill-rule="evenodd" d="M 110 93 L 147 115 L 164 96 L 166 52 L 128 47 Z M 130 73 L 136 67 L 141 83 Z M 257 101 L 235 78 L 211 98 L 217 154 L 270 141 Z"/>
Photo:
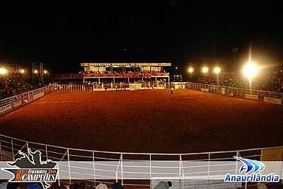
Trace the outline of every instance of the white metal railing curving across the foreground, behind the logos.
<path fill-rule="evenodd" d="M 32 149 L 41 152 L 42 161 L 51 159 L 58 162 L 59 183 L 71 184 L 79 180 L 88 185 L 110 185 L 119 181 L 125 186 L 153 188 L 158 181 L 172 181 L 172 188 L 246 188 L 246 183 L 227 185 L 223 180 L 215 180 L 214 176 L 225 171 L 238 173 L 240 164 L 233 156 L 261 160 L 264 151 L 274 153 L 276 149 L 282 151 L 282 148 L 187 154 L 127 153 L 57 147 L 0 134 L 0 163 L 21 157 L 18 150 L 27 153 L 28 149 Z M 200 162 L 205 164 L 196 164 Z M 204 176 L 206 181 L 192 180 L 195 176 Z"/>

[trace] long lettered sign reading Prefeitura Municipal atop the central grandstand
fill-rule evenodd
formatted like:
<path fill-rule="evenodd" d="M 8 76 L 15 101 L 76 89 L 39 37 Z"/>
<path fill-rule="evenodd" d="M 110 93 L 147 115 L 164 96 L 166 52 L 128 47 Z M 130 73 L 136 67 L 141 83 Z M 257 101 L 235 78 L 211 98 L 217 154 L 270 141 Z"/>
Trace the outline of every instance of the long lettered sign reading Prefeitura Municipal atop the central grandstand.
<path fill-rule="evenodd" d="M 81 67 L 171 67 L 171 63 L 157 63 L 157 62 L 95 62 L 95 63 L 81 63 Z"/>

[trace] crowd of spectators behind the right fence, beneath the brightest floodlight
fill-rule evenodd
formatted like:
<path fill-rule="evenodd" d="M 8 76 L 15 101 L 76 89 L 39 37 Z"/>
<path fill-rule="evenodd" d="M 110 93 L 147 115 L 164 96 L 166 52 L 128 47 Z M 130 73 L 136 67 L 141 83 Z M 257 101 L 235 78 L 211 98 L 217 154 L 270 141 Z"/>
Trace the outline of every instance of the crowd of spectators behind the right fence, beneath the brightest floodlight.
<path fill-rule="evenodd" d="M 249 80 L 243 74 L 222 73 L 218 80 L 216 74 L 204 74 L 197 79 L 191 79 L 200 84 L 212 84 L 237 88 L 250 88 Z M 283 70 L 272 71 L 270 74 L 260 75 L 253 79 L 252 88 L 262 91 L 275 91 L 283 93 Z"/>

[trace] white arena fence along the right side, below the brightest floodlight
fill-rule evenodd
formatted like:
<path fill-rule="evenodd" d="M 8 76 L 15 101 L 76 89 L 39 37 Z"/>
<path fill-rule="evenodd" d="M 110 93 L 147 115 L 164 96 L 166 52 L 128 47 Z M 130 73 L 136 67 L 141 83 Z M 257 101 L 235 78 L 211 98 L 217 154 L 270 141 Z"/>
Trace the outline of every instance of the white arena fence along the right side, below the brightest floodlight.
<path fill-rule="evenodd" d="M 195 91 L 214 93 L 224 96 L 233 96 L 237 98 L 246 98 L 256 101 L 264 101 L 267 103 L 283 104 L 283 93 L 271 91 L 259 91 L 248 88 L 236 88 L 229 86 L 216 86 L 209 84 L 197 84 L 190 82 L 174 82 L 176 89 L 186 88 Z"/>

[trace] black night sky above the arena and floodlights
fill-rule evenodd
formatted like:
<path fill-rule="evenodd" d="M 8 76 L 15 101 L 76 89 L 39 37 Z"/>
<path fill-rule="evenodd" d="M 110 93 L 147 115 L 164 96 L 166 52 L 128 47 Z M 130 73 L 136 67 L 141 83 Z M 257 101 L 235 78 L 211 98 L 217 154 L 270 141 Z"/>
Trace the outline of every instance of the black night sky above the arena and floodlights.
<path fill-rule="evenodd" d="M 44 62 L 77 73 L 80 62 L 220 64 L 253 57 L 282 63 L 283 6 L 276 1 L 93 1 L 1 6 L 0 62 Z M 104 2 L 104 3 L 102 3 Z"/>

